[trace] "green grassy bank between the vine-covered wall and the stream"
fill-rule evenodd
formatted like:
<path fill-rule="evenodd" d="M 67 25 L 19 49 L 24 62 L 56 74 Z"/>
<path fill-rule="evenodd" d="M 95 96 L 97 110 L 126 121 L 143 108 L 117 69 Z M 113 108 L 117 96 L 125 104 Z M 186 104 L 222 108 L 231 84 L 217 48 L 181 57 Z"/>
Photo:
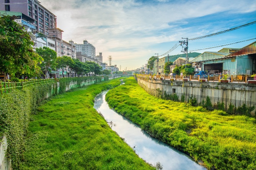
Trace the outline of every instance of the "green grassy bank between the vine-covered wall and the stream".
<path fill-rule="evenodd" d="M 55 96 L 31 117 L 22 170 L 150 170 L 93 108 L 106 81 Z"/>

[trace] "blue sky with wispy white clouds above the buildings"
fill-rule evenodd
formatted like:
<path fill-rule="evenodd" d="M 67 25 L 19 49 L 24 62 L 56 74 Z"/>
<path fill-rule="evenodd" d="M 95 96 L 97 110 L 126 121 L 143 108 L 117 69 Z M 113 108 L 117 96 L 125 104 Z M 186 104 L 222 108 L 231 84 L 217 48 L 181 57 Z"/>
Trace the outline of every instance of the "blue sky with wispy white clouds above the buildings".
<path fill-rule="evenodd" d="M 87 40 L 96 48 L 96 55 L 102 53 L 103 62 L 109 64 L 108 56 L 112 56 L 112 65 L 119 69 L 121 65 L 121 70 L 142 67 L 157 54 L 164 57 L 161 55 L 182 38 L 201 37 L 256 21 L 256 0 L 39 1 L 57 16 L 57 27 L 64 31 L 63 40 L 72 39 L 77 44 Z M 189 40 L 188 52 L 242 48 L 256 41 L 255 38 L 256 24 L 252 24 Z M 235 44 L 217 47 L 231 43 Z M 209 47 L 216 48 L 205 49 Z M 178 46 L 168 54 L 178 55 L 181 50 Z"/>

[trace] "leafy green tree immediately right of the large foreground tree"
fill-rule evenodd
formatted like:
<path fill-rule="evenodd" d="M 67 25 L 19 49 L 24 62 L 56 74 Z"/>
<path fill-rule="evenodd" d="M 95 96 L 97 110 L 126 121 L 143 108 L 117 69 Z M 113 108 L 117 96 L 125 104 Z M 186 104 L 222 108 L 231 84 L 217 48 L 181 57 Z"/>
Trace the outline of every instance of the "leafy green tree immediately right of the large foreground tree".
<path fill-rule="evenodd" d="M 36 52 L 44 59 L 40 66 L 45 71 L 47 78 L 48 71 L 56 69 L 57 53 L 48 47 L 36 48 Z"/>

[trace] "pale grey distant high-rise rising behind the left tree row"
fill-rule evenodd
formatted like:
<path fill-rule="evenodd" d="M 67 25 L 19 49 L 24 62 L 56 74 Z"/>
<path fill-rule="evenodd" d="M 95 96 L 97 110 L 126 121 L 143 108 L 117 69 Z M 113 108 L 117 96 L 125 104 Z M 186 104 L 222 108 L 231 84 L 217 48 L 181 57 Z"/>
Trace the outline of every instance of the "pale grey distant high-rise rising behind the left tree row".
<path fill-rule="evenodd" d="M 70 40 L 69 43 L 75 45 L 75 47 L 77 48 L 77 52 L 82 52 L 82 55 L 86 55 L 86 57 L 96 59 L 95 47 L 87 40 L 84 40 L 83 44 L 74 43 L 72 40 Z"/>

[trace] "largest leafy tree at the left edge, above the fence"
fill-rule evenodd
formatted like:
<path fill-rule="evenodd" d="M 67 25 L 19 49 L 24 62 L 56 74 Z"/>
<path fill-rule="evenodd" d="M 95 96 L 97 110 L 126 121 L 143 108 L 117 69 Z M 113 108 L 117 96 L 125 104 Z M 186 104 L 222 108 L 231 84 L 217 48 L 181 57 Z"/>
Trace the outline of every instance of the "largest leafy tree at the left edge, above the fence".
<path fill-rule="evenodd" d="M 39 74 L 38 63 L 43 59 L 33 51 L 32 32 L 15 19 L 16 16 L 0 16 L 0 72 L 5 77 L 7 73 L 34 76 Z"/>

